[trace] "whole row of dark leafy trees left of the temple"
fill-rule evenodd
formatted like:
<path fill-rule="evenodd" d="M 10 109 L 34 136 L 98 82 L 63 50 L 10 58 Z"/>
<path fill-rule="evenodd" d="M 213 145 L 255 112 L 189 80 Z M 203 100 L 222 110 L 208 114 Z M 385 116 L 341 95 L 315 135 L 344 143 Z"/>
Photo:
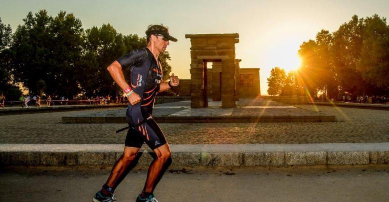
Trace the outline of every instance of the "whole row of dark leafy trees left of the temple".
<path fill-rule="evenodd" d="M 123 35 L 110 24 L 84 30 L 81 20 L 65 11 L 54 17 L 46 10 L 29 12 L 23 22 L 12 34 L 0 19 L 0 76 L 5 78 L 0 82 L 21 83 L 34 94 L 73 97 L 121 92 L 107 66 L 147 45 L 145 37 Z M 171 71 L 169 53 L 160 59 L 166 79 Z M 124 72 L 129 75 L 128 68 Z"/>

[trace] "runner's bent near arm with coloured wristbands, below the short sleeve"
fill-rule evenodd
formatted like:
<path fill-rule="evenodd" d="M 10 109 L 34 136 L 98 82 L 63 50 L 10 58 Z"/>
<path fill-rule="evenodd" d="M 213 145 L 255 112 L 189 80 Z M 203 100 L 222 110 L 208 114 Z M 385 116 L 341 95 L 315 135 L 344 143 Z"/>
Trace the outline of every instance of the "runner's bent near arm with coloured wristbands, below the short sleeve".
<path fill-rule="evenodd" d="M 120 65 L 118 61 L 112 62 L 112 64 L 109 65 L 107 69 L 114 81 L 119 85 L 122 90 L 130 88 L 130 85 L 126 82 L 126 79 L 124 78 L 122 65 Z M 133 92 L 127 98 L 131 105 L 135 105 L 141 101 L 141 97 L 136 92 Z"/>

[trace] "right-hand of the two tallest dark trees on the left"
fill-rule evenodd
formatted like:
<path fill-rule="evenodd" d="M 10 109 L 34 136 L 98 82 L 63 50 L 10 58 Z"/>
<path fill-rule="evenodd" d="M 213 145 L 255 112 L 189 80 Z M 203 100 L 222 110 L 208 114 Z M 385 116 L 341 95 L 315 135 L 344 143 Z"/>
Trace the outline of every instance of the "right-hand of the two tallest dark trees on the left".
<path fill-rule="evenodd" d="M 47 91 L 57 95 L 74 96 L 80 93 L 77 62 L 82 53 L 82 23 L 73 13 L 60 11 L 49 24 L 49 66 L 45 70 Z M 53 88 L 54 87 L 54 88 Z M 39 90 L 39 89 L 36 89 Z"/>

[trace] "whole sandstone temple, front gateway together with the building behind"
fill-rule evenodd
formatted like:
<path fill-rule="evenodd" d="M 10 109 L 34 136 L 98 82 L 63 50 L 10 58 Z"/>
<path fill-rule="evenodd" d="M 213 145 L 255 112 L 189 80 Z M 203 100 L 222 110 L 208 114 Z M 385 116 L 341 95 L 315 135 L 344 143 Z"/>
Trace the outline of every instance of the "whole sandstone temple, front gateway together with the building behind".
<path fill-rule="evenodd" d="M 180 80 L 180 96 L 191 97 L 192 108 L 208 106 L 208 97 L 221 107 L 235 107 L 241 98 L 260 93 L 259 68 L 239 68 L 235 58 L 238 33 L 186 34 L 191 39 L 191 79 Z M 207 63 L 212 63 L 207 68 Z"/>

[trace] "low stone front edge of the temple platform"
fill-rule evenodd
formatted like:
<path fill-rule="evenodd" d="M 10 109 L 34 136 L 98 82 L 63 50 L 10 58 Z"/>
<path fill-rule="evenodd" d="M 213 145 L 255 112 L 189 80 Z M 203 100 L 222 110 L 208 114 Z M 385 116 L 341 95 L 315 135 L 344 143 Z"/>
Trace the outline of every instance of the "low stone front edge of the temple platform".
<path fill-rule="evenodd" d="M 154 116 L 158 123 L 335 122 L 335 116 Z M 62 117 L 62 123 L 127 123 L 126 117 Z"/>

